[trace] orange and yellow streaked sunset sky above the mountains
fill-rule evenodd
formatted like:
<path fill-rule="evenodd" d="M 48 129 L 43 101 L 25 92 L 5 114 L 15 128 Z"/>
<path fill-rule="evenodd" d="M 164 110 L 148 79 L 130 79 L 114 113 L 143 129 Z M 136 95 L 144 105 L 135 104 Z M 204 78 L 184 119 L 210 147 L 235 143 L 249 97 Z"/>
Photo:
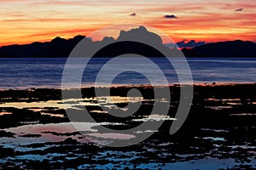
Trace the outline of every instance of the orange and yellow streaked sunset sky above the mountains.
<path fill-rule="evenodd" d="M 155 27 L 176 42 L 256 42 L 255 0 L 0 0 L 0 8 L 0 46 L 87 36 L 122 23 Z M 177 18 L 164 17 L 172 14 Z"/>

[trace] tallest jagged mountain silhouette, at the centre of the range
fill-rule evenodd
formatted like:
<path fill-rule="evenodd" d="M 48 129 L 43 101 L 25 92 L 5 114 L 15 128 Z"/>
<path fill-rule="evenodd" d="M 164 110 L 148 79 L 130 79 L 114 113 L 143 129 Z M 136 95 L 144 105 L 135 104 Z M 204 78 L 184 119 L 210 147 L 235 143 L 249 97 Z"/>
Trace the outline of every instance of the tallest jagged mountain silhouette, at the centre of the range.
<path fill-rule="evenodd" d="M 122 54 L 138 54 L 145 57 L 165 57 L 165 55 L 161 53 L 168 56 L 179 56 L 181 54 L 181 51 L 175 49 L 171 50 L 166 47 L 159 35 L 148 31 L 144 26 L 139 26 L 130 31 L 120 31 L 119 37 L 117 37 L 116 40 L 105 37 L 101 42 L 93 43 L 93 48 L 100 49 L 96 50 L 97 52 L 93 57 L 111 58 Z"/>

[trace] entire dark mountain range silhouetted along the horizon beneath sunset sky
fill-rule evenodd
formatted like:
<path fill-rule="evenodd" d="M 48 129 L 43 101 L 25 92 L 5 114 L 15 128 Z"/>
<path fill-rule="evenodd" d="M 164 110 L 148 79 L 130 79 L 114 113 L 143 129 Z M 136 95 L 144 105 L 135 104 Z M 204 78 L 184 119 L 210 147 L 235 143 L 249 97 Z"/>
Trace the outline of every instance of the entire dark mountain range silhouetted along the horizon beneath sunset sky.
<path fill-rule="evenodd" d="M 81 41 L 85 42 L 84 50 L 90 48 L 104 47 L 95 54 L 94 57 L 115 57 L 119 54 L 142 54 L 147 57 L 163 57 L 159 53 L 165 51 L 170 56 L 181 54 L 177 48 L 168 48 L 163 44 L 159 35 L 148 31 L 144 26 L 131 29 L 130 31 L 120 31 L 119 37 L 104 37 L 102 41 L 93 42 L 91 38 L 76 36 L 70 39 L 55 37 L 50 42 L 32 42 L 25 45 L 9 45 L 0 48 L 2 58 L 67 58 L 73 48 Z M 153 44 L 150 48 L 142 43 Z M 207 43 L 195 48 L 183 48 L 182 52 L 186 57 L 256 57 L 256 44 L 253 42 L 243 42 L 241 40 L 229 42 Z M 78 56 L 82 57 L 82 56 Z"/>

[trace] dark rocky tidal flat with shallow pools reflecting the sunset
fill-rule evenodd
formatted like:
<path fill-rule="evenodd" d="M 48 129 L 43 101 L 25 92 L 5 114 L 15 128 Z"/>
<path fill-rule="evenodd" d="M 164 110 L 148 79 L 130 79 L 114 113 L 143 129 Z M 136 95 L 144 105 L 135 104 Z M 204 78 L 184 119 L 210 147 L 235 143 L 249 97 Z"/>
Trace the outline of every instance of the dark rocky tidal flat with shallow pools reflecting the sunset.
<path fill-rule="evenodd" d="M 2 169 L 253 169 L 256 168 L 256 84 L 194 87 L 193 105 L 183 127 L 169 134 L 179 102 L 179 86 L 172 92 L 169 116 L 149 116 L 154 105 L 150 87 L 140 109 L 130 117 L 114 118 L 98 105 L 125 106 L 132 87 L 112 88 L 112 103 L 94 98 L 94 88 L 82 90 L 83 99 L 61 100 L 61 90 L 32 89 L 0 92 L 0 168 Z M 131 99 L 138 102 L 137 98 Z M 163 101 L 164 102 L 164 101 Z M 83 113 L 84 105 L 98 124 L 87 122 L 86 132 L 99 139 L 99 126 L 135 127 L 146 121 L 165 121 L 140 144 L 110 148 L 95 144 L 72 127 L 63 105 Z M 79 122 L 79 121 L 78 121 Z M 137 133 L 147 133 L 137 132 Z M 117 138 L 123 139 L 124 136 Z"/>

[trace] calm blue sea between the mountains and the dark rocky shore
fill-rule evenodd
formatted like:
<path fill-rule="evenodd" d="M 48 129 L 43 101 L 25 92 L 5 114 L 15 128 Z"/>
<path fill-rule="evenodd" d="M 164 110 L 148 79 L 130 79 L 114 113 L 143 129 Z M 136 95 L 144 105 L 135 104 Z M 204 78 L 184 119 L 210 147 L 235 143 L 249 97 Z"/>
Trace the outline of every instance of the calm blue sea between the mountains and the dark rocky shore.
<path fill-rule="evenodd" d="M 82 83 L 90 86 L 95 82 L 97 72 L 109 59 L 92 59 L 87 65 Z M 152 59 L 166 75 L 170 84 L 178 83 L 177 75 L 172 65 L 166 59 Z M 226 58 L 226 59 L 188 59 L 195 83 L 202 82 L 256 82 L 256 59 Z M 0 59 L 0 88 L 61 88 L 62 71 L 66 59 Z M 143 65 L 137 64 L 137 66 Z M 77 71 L 81 66 L 77 59 L 72 67 Z M 147 71 L 154 74 L 150 65 Z M 108 73 L 106 73 L 108 74 Z M 155 77 L 161 84 L 161 77 Z M 70 80 L 72 86 L 73 80 Z M 127 71 L 114 78 L 116 84 L 148 84 L 142 74 Z M 72 88 L 72 87 L 71 87 Z"/>

